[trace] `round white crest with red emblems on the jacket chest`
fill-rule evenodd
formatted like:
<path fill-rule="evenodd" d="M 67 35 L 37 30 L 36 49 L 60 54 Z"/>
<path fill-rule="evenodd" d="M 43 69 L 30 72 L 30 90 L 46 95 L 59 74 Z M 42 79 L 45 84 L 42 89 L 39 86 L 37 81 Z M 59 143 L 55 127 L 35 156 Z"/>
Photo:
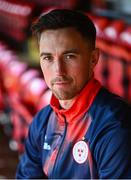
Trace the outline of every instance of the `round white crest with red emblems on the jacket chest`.
<path fill-rule="evenodd" d="M 85 141 L 78 141 L 73 147 L 74 160 L 82 164 L 87 160 L 88 157 L 88 146 Z"/>

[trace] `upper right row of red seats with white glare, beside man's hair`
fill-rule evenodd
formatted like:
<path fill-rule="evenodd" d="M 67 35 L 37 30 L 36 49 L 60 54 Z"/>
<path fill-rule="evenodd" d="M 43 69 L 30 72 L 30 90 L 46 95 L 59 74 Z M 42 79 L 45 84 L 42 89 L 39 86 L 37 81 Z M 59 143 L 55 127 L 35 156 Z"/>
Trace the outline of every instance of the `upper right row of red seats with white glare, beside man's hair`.
<path fill-rule="evenodd" d="M 131 47 L 131 25 L 127 24 L 122 19 L 109 19 L 107 17 L 100 17 L 90 15 L 95 23 L 97 29 L 97 37 L 110 41 L 112 43 L 124 46 L 124 48 Z"/>

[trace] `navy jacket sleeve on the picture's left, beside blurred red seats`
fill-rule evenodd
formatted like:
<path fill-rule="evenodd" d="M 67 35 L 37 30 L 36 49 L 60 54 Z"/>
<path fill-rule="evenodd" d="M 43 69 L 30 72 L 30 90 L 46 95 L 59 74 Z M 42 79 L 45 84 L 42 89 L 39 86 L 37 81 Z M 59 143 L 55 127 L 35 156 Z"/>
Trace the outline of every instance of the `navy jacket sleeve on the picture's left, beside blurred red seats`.
<path fill-rule="evenodd" d="M 44 110 L 45 112 L 45 110 Z M 39 112 L 30 125 L 28 137 L 25 141 L 25 152 L 22 155 L 16 171 L 16 179 L 44 179 L 47 178 L 42 169 L 41 159 L 41 129 L 44 133 L 49 110 Z M 45 117 L 46 116 L 46 117 Z"/>

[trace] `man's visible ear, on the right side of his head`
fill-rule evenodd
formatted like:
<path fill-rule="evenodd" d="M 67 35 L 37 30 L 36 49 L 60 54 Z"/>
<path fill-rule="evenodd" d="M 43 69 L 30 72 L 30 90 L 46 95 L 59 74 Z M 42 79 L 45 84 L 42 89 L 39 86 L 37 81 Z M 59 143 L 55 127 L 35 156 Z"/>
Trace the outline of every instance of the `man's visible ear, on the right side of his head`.
<path fill-rule="evenodd" d="M 96 64 L 98 63 L 99 55 L 100 55 L 100 50 L 98 48 L 95 48 L 91 54 L 91 67 L 92 68 L 94 68 Z"/>

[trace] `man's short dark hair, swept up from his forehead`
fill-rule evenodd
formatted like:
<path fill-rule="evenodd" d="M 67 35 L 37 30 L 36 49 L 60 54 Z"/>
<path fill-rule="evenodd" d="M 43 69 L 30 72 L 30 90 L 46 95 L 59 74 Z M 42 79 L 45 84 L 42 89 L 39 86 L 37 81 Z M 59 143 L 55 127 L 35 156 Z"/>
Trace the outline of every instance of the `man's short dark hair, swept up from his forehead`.
<path fill-rule="evenodd" d="M 54 9 L 43 13 L 33 24 L 32 32 L 38 39 L 42 31 L 73 27 L 95 48 L 96 28 L 92 20 L 82 12 L 69 9 Z"/>

